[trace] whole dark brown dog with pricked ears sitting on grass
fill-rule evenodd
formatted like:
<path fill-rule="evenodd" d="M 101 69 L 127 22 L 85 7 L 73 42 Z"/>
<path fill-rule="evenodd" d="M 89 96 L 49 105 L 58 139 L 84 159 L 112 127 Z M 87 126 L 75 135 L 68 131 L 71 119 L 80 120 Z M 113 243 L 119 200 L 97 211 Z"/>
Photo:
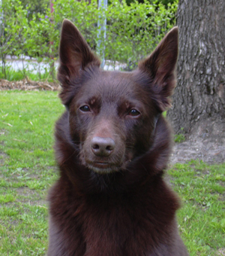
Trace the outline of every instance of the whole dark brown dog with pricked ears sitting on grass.
<path fill-rule="evenodd" d="M 60 177 L 49 193 L 49 256 L 183 256 L 163 181 L 171 130 L 178 28 L 133 72 L 108 72 L 69 20 L 58 81 L 66 111 L 55 126 Z"/>

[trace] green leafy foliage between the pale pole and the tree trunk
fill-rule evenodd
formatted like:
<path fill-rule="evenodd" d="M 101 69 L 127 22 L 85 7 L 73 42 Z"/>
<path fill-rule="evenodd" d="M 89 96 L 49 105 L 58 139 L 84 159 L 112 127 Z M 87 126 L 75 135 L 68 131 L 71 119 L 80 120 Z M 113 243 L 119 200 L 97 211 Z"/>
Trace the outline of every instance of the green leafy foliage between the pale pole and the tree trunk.
<path fill-rule="evenodd" d="M 125 1 L 113 2 L 107 8 L 106 59 L 136 66 L 175 25 L 175 11 L 176 4 L 165 8 L 148 1 L 130 6 Z"/>

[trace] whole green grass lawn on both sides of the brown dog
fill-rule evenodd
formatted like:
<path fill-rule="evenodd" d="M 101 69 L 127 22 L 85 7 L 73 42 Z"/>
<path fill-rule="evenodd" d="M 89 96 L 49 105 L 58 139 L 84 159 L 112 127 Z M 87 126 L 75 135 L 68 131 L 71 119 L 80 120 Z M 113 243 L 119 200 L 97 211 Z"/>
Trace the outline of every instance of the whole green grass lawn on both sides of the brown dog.
<path fill-rule="evenodd" d="M 46 254 L 46 194 L 57 178 L 52 133 L 63 110 L 55 92 L 0 92 L 0 255 Z M 190 255 L 224 255 L 224 169 L 198 161 L 169 169 Z"/>

